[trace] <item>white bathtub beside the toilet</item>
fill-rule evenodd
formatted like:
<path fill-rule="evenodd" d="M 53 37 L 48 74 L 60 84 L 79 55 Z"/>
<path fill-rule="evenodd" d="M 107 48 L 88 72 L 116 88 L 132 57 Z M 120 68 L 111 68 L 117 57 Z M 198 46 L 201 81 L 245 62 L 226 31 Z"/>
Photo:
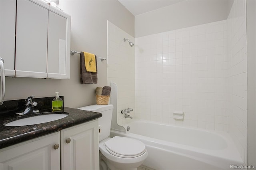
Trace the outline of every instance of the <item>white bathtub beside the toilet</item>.
<path fill-rule="evenodd" d="M 111 136 L 125 136 L 144 142 L 148 150 L 144 166 L 156 170 L 230 170 L 231 165 L 243 165 L 226 132 L 148 121 L 134 121 L 127 126 L 130 126 L 128 132 L 111 131 Z"/>

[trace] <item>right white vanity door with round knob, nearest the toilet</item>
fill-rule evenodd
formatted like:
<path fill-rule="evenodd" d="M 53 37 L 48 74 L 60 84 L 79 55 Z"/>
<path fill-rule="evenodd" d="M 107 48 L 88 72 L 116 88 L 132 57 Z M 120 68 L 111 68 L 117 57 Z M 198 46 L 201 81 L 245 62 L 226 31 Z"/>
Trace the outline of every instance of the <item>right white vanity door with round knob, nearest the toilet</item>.
<path fill-rule="evenodd" d="M 63 170 L 99 170 L 98 119 L 61 130 L 60 136 Z"/>

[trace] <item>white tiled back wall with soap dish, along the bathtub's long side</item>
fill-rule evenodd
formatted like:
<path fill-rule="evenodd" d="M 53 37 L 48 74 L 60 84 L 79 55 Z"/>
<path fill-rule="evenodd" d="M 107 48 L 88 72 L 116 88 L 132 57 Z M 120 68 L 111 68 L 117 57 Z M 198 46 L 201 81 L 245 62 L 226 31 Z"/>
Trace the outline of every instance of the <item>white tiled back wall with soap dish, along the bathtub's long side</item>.
<path fill-rule="evenodd" d="M 226 20 L 135 40 L 136 117 L 227 130 Z M 184 121 L 173 119 L 183 111 Z"/>

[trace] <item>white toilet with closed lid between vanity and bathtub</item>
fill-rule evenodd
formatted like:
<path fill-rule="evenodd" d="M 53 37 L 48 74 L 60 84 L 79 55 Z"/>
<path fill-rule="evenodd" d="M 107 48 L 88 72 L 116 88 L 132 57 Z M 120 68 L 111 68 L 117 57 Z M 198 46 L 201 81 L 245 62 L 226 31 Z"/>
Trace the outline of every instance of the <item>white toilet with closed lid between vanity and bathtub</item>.
<path fill-rule="evenodd" d="M 90 105 L 78 109 L 102 113 L 99 118 L 100 170 L 137 170 L 148 156 L 144 143 L 133 138 L 110 138 L 113 105 Z"/>

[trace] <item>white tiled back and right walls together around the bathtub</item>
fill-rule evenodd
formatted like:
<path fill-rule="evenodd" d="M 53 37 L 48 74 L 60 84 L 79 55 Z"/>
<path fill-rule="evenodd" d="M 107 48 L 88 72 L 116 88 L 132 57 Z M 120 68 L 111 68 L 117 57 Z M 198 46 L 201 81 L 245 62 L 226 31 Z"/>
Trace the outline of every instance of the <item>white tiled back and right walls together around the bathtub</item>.
<path fill-rule="evenodd" d="M 227 131 L 247 161 L 246 1 L 227 20 L 135 39 L 136 118 Z M 173 119 L 184 112 L 184 121 Z"/>

